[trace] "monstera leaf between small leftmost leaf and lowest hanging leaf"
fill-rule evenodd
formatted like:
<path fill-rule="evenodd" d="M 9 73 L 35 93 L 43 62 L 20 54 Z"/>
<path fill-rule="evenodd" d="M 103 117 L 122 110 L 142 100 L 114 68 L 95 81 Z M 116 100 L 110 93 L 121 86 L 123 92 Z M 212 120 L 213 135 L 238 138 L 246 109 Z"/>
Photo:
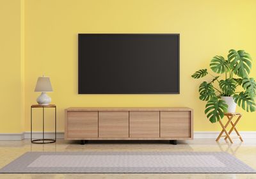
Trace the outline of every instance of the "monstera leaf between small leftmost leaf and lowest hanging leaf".
<path fill-rule="evenodd" d="M 200 100 L 208 101 L 213 97 L 216 97 L 214 88 L 211 83 L 206 81 L 202 82 L 199 86 Z"/>

